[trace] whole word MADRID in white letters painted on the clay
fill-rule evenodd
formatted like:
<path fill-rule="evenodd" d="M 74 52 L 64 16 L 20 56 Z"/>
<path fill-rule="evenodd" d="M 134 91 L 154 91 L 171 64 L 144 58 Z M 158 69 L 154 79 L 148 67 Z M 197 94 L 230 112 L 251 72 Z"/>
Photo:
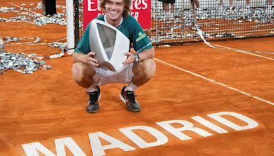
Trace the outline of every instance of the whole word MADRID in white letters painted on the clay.
<path fill-rule="evenodd" d="M 230 127 L 236 131 L 242 131 L 245 129 L 253 129 L 255 127 L 258 127 L 258 122 L 255 120 L 252 120 L 251 118 L 248 118 L 247 116 L 244 116 L 242 114 L 238 114 L 235 112 L 219 112 L 214 114 L 207 114 L 210 118 L 216 120 L 216 122 L 220 122 L 223 125 Z M 225 116 L 234 117 L 237 120 L 241 120 L 245 123 L 242 124 L 236 124 L 230 120 L 227 120 L 227 118 L 224 118 Z M 206 120 L 205 118 L 201 118 L 200 116 L 192 116 L 192 120 L 195 120 L 199 122 L 201 125 L 208 127 L 209 129 L 212 129 L 212 131 L 216 131 L 217 133 L 229 133 L 229 131 L 215 125 L 213 122 L 210 122 Z M 187 120 L 167 120 L 162 122 L 156 122 L 157 125 L 165 129 L 166 131 L 169 131 L 172 135 L 179 138 L 180 140 L 190 140 L 191 138 L 183 133 L 184 131 L 192 131 L 195 132 L 202 137 L 208 137 L 211 136 L 212 133 L 209 133 L 208 131 L 205 131 L 203 129 L 200 129 L 198 127 L 194 127 L 192 122 L 188 122 Z M 176 124 L 179 126 L 174 127 Z M 182 126 L 181 126 L 182 125 Z M 147 142 L 145 141 L 146 138 L 141 138 L 140 135 L 137 135 L 134 130 L 142 130 L 144 133 L 151 134 L 155 141 Z M 132 140 L 137 146 L 140 148 L 147 148 L 151 146 L 160 146 L 162 144 L 166 144 L 166 142 L 169 141 L 169 138 L 164 135 L 164 133 L 158 131 L 158 129 L 155 129 L 153 127 L 149 126 L 135 126 L 135 127 L 126 127 L 119 129 L 121 133 L 123 133 L 129 140 Z M 147 135 L 145 135 L 147 136 Z M 125 144 L 124 142 L 121 142 L 120 140 L 117 140 L 116 138 L 113 138 L 112 136 L 105 134 L 103 132 L 97 132 L 97 133 L 88 133 L 88 137 L 90 140 L 90 146 L 92 149 L 92 154 L 94 156 L 97 155 L 105 155 L 105 150 L 112 149 L 112 148 L 120 148 L 123 151 L 133 151 L 136 150 L 133 146 L 130 146 L 129 144 Z M 109 142 L 110 144 L 106 143 L 104 145 L 101 144 L 100 140 L 105 140 L 106 142 Z M 55 149 L 56 154 L 49 150 L 49 148 L 43 146 L 40 142 L 33 142 L 29 144 L 22 144 L 23 150 L 25 151 L 25 154 L 27 156 L 39 156 L 39 154 L 47 155 L 47 156 L 55 156 L 55 155 L 66 155 L 67 149 L 73 154 L 73 155 L 81 155 L 86 156 L 86 153 L 82 151 L 82 149 L 76 144 L 76 142 L 73 140 L 73 138 L 60 138 L 55 140 Z M 90 155 L 90 153 L 88 154 Z"/>

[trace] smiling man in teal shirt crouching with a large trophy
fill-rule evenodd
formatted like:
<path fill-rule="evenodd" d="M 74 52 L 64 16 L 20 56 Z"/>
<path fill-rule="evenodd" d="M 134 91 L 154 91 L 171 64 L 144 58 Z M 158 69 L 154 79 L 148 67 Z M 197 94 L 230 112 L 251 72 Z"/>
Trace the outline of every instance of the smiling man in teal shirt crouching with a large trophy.
<path fill-rule="evenodd" d="M 138 21 L 129 15 L 131 0 L 101 0 L 100 7 L 105 15 L 97 19 L 119 29 L 129 38 L 134 51 L 124 51 L 127 59 L 123 62 L 121 70 L 112 72 L 102 66 L 94 58 L 95 52 L 90 51 L 89 29 L 86 27 L 84 35 L 77 44 L 73 53 L 75 64 L 72 67 L 72 75 L 75 82 L 84 88 L 89 95 L 87 111 L 95 113 L 99 110 L 100 88 L 108 83 L 127 83 L 121 90 L 120 98 L 126 103 L 131 112 L 140 112 L 140 104 L 135 99 L 134 91 L 147 83 L 155 75 L 154 49 L 147 38 L 145 31 Z"/>

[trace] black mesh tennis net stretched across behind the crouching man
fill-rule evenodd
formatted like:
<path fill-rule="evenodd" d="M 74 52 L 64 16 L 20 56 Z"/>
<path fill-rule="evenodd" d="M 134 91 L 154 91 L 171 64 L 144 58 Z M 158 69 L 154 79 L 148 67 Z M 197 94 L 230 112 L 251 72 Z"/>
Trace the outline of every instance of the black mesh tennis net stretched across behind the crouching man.
<path fill-rule="evenodd" d="M 138 1 L 138 0 L 135 0 Z M 151 0 L 153 45 L 274 36 L 273 0 Z M 75 44 L 83 27 L 83 0 L 75 0 Z M 195 25 L 196 22 L 196 25 Z"/>

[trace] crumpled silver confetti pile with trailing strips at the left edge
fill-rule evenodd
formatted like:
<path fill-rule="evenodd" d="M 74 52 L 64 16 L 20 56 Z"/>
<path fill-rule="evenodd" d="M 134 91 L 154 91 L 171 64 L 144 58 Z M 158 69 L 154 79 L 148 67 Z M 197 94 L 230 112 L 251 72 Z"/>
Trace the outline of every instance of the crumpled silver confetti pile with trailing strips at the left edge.
<path fill-rule="evenodd" d="M 0 36 L 1 39 L 1 36 Z M 25 39 L 33 39 L 33 42 L 21 42 L 21 43 L 10 43 L 10 42 L 18 42 Z M 64 40 L 64 39 L 60 39 Z M 60 41 L 58 40 L 58 41 Z M 66 50 L 66 43 L 62 42 L 51 42 L 51 43 L 39 43 L 41 41 L 40 38 L 16 38 L 13 36 L 5 37 L 4 40 L 0 40 L 0 73 L 5 73 L 6 70 L 12 69 L 16 70 L 19 73 L 31 74 L 38 69 L 47 70 L 52 68 L 51 66 L 47 66 L 45 60 L 43 59 L 54 59 L 64 56 L 64 51 Z M 35 53 L 27 54 L 27 53 L 9 53 L 4 50 L 4 44 L 8 45 L 13 44 L 29 44 L 29 45 L 37 45 L 37 44 L 48 44 L 49 47 L 58 47 L 61 49 L 61 53 L 56 53 L 48 56 L 38 56 Z M 39 59 L 40 61 L 36 60 Z"/>

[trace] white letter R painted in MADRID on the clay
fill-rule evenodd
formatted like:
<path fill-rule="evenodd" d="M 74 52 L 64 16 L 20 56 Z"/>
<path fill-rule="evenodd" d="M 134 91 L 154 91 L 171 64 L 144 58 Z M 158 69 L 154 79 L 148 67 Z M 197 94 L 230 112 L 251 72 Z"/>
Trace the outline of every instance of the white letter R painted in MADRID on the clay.
<path fill-rule="evenodd" d="M 180 128 L 175 128 L 171 126 L 171 124 L 181 124 L 183 127 Z M 193 127 L 193 124 L 191 122 L 188 122 L 186 120 L 169 120 L 169 121 L 162 121 L 162 122 L 156 122 L 160 127 L 166 129 L 166 131 L 169 131 L 169 133 L 175 135 L 175 137 L 179 138 L 180 140 L 190 140 L 191 138 L 182 133 L 182 131 L 194 131 L 195 133 L 203 136 L 203 137 L 208 137 L 211 136 L 212 133 L 208 133 L 207 131 Z"/>

